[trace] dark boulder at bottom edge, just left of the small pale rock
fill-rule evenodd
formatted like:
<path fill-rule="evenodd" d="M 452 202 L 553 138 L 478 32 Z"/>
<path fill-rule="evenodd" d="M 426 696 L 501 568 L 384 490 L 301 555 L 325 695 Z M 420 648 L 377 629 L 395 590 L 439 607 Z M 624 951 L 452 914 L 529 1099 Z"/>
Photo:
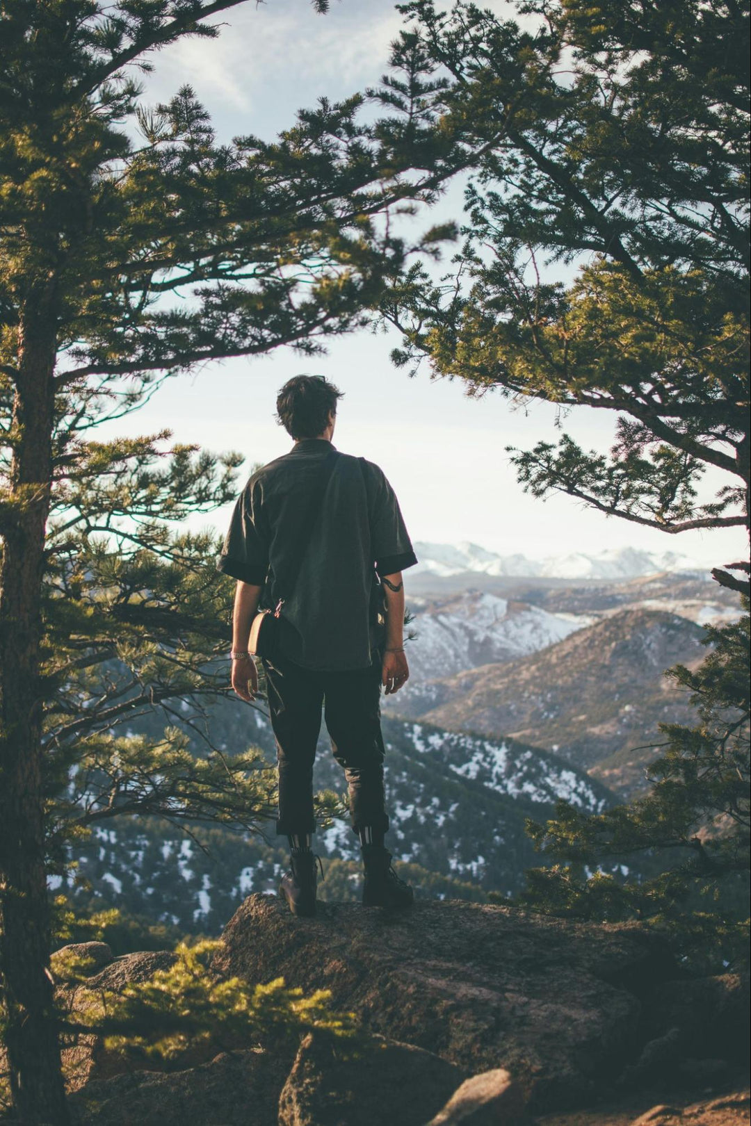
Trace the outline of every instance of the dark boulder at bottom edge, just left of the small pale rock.
<path fill-rule="evenodd" d="M 331 1037 L 309 1033 L 279 1098 L 278 1126 L 421 1126 L 463 1074 L 412 1044 L 373 1037 L 352 1056 Z"/>

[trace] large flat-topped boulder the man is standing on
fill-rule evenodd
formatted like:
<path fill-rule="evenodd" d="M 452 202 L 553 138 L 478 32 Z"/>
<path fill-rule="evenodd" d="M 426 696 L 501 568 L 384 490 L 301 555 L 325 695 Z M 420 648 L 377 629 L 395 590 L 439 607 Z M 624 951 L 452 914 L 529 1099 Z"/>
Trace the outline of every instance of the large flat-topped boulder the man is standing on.
<path fill-rule="evenodd" d="M 366 1030 L 432 1052 L 466 1076 L 507 1069 L 536 1110 L 575 1105 L 617 1079 L 643 1046 L 641 998 L 678 973 L 638 924 L 459 900 L 400 913 L 320 903 L 316 918 L 302 919 L 254 894 L 222 938 L 218 972 L 330 989 L 332 1004 L 357 1012 Z"/>

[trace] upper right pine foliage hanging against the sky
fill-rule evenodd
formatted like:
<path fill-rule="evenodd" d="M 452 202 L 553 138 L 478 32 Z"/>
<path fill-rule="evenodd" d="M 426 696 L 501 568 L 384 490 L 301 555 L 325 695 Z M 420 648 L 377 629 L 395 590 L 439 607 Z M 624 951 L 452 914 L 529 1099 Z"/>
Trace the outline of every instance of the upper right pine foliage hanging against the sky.
<path fill-rule="evenodd" d="M 535 497 L 748 526 L 748 0 L 518 7 L 522 24 L 400 6 L 394 57 L 422 59 L 474 163 L 454 270 L 414 265 L 382 303 L 394 360 L 615 412 L 607 457 L 569 437 L 512 450 Z M 728 474 L 708 502 L 707 465 Z"/>

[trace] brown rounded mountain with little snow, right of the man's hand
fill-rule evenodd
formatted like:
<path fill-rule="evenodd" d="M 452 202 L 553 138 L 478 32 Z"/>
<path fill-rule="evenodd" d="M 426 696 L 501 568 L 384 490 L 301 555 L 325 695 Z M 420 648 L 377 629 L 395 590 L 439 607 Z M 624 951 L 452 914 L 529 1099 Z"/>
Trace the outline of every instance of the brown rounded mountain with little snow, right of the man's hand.
<path fill-rule="evenodd" d="M 518 660 L 411 680 L 388 711 L 445 731 L 549 749 L 632 796 L 646 785 L 653 745 L 664 742 L 658 723 L 695 718 L 687 692 L 663 671 L 699 661 L 703 636 L 676 614 L 623 609 Z"/>

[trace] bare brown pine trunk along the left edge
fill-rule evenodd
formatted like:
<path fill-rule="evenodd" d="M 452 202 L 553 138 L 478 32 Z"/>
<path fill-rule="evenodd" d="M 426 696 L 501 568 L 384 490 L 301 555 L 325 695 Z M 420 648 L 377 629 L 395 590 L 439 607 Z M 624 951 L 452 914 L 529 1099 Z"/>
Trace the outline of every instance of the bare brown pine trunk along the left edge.
<path fill-rule="evenodd" d="M 70 1119 L 50 973 L 37 680 L 54 425 L 52 315 L 27 316 L 19 346 L 11 515 L 0 572 L 0 973 L 14 1108 L 25 1126 L 64 1126 Z"/>

